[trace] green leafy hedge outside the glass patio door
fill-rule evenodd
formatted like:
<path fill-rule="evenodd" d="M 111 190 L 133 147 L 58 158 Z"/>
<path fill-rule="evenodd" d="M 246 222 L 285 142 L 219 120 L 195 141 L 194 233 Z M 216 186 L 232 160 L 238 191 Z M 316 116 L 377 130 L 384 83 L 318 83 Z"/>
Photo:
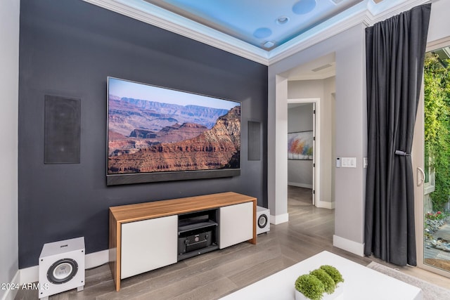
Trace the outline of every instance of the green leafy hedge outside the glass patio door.
<path fill-rule="evenodd" d="M 450 60 L 425 56 L 425 160 L 435 171 L 433 210 L 443 209 L 450 197 Z"/>

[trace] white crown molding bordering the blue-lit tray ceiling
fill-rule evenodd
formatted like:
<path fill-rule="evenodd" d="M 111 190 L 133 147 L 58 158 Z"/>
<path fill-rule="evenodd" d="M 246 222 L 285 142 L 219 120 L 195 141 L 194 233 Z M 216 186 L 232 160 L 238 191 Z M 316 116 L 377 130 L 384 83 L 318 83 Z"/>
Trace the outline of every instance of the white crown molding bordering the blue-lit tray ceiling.
<path fill-rule="evenodd" d="M 201 25 L 181 15 L 176 15 L 148 2 L 144 3 L 141 0 L 83 1 L 180 34 L 189 39 L 200 41 L 203 44 L 219 48 L 262 65 L 277 63 L 294 53 L 318 44 L 356 25 L 372 26 L 376 22 L 398 15 L 403 11 L 408 11 L 415 6 L 430 3 L 430 0 L 385 0 L 375 4 L 373 0 L 365 0 L 285 44 L 271 51 L 265 51 L 228 34 Z"/>

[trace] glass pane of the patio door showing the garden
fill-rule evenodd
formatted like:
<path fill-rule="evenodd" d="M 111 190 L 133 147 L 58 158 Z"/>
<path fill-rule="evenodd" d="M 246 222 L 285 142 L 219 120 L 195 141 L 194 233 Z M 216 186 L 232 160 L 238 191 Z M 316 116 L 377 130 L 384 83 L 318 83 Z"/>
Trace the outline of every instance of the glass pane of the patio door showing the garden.
<path fill-rule="evenodd" d="M 423 263 L 450 274 L 450 47 L 424 65 Z"/>

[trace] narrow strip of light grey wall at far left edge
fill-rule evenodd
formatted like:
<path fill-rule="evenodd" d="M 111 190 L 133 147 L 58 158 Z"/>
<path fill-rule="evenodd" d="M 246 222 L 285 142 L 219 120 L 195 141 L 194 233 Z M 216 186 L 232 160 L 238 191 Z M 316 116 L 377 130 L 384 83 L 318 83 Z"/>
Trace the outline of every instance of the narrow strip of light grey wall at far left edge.
<path fill-rule="evenodd" d="M 0 283 L 18 280 L 19 15 L 20 1 L 1 1 Z M 0 299 L 13 299 L 13 293 L 0 289 Z"/>

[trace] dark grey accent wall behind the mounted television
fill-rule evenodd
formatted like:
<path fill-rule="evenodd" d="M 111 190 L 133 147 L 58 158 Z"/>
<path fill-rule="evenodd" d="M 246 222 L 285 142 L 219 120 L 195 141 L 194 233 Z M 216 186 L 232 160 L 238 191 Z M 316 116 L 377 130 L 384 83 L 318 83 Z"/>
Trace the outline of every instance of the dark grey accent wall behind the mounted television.
<path fill-rule="evenodd" d="M 79 0 L 20 2 L 19 268 L 84 236 L 108 249 L 108 207 L 235 191 L 267 205 L 267 67 Z M 240 176 L 106 186 L 108 76 L 242 102 Z M 79 164 L 44 164 L 45 95 L 81 101 Z M 249 161 L 248 120 L 262 122 Z M 4 129 L 8 130 L 8 129 Z"/>

